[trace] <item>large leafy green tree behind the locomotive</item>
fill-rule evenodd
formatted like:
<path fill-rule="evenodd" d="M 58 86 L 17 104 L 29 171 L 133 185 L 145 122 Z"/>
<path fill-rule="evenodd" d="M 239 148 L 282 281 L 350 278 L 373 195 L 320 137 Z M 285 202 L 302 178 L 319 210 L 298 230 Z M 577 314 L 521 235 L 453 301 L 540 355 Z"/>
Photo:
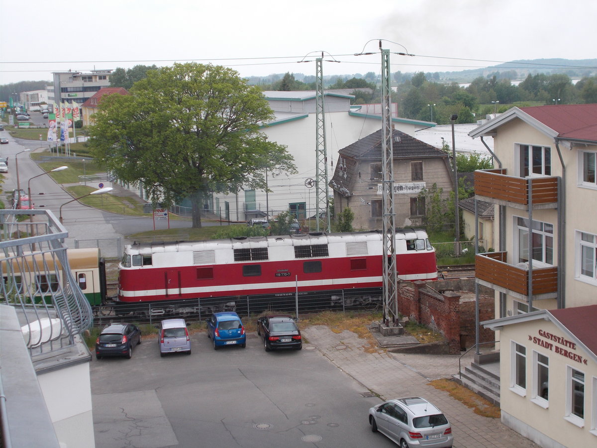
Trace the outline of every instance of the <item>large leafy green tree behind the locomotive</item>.
<path fill-rule="evenodd" d="M 265 170 L 295 173 L 285 146 L 259 132 L 273 118 L 235 70 L 198 63 L 150 70 L 130 95 L 103 97 L 90 146 L 97 160 L 148 198 L 189 197 L 193 227 L 211 192 L 266 188 Z"/>

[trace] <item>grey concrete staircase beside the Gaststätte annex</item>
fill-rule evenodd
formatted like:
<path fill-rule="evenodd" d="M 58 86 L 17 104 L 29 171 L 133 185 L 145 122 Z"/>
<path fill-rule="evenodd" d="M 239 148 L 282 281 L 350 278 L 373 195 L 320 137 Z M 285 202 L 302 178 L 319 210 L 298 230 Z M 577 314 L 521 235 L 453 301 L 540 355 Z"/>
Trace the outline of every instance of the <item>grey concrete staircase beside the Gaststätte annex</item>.
<path fill-rule="evenodd" d="M 490 356 L 487 356 L 490 355 Z M 500 406 L 500 361 L 499 353 L 475 355 L 470 366 L 460 374 L 453 375 L 454 381 L 472 390 L 490 403 Z"/>

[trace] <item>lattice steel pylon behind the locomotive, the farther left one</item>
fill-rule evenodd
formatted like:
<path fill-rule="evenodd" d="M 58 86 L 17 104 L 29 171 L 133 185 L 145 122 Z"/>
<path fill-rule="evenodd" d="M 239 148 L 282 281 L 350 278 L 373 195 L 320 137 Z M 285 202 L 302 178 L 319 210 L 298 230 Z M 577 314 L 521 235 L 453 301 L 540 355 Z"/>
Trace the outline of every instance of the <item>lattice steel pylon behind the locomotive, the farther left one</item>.
<path fill-rule="evenodd" d="M 325 100 L 323 54 L 315 60 L 315 222 L 316 230 L 330 232 L 330 192 L 328 188 L 328 155 L 325 145 Z M 321 213 L 324 212 L 324 213 Z"/>

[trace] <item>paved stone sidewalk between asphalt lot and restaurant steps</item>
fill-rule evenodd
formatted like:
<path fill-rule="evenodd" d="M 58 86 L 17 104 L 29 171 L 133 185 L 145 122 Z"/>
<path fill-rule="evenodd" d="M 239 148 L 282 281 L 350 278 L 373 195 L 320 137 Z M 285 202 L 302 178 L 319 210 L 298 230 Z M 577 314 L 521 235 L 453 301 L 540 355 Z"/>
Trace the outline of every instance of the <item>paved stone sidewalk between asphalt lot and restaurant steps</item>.
<path fill-rule="evenodd" d="M 334 333 L 326 326 L 301 330 L 309 342 L 338 369 L 361 383 L 382 400 L 399 397 L 427 398 L 439 407 L 452 424 L 456 448 L 535 448 L 527 438 L 501 424 L 499 419 L 476 415 L 472 409 L 450 397 L 447 392 L 428 385 L 432 379 L 449 378 L 458 373 L 458 355 L 396 354 L 371 350 L 365 339 L 344 330 Z M 471 354 L 463 357 L 470 363 Z M 367 418 L 366 415 L 363 418 Z"/>

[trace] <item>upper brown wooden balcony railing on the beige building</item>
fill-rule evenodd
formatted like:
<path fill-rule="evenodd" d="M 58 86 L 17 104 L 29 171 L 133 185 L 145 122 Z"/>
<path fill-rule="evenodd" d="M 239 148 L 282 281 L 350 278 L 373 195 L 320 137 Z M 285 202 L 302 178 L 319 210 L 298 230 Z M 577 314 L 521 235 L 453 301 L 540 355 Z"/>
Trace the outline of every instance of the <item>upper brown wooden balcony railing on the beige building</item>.
<path fill-rule="evenodd" d="M 475 171 L 475 194 L 498 201 L 528 206 L 532 188 L 533 205 L 557 204 L 558 177 L 507 176 L 506 170 Z"/>

